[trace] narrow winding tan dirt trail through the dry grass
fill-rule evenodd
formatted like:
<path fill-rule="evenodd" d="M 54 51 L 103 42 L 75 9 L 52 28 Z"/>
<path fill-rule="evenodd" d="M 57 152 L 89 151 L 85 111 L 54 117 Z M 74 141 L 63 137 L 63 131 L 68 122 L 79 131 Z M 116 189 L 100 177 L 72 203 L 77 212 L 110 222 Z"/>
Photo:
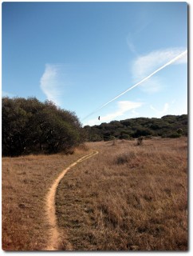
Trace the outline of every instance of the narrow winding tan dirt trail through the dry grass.
<path fill-rule="evenodd" d="M 77 163 L 83 162 L 95 154 L 98 154 L 97 150 L 93 150 L 92 153 L 85 155 L 84 157 L 78 159 L 76 162 L 73 162 L 69 167 L 61 172 L 61 174 L 57 177 L 57 179 L 53 182 L 53 185 L 50 187 L 48 194 L 46 195 L 45 202 L 45 211 L 46 216 L 48 218 L 49 226 L 50 226 L 50 239 L 48 242 L 48 246 L 45 250 L 60 250 L 61 239 L 64 240 L 64 234 L 61 235 L 61 232 L 57 226 L 57 216 L 55 214 L 55 194 L 57 191 L 57 186 L 61 181 L 68 170 L 70 170 L 73 166 L 76 166 Z M 73 246 L 66 239 L 66 250 L 73 250 Z"/>

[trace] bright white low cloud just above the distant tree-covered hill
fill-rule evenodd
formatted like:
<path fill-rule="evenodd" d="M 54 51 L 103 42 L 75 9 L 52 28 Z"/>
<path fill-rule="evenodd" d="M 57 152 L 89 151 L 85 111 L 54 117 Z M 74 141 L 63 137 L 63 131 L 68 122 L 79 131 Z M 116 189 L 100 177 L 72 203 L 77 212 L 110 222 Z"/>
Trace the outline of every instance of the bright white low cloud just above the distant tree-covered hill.
<path fill-rule="evenodd" d="M 130 102 L 130 101 L 120 101 L 117 102 L 117 109 L 113 113 L 106 114 L 104 116 L 100 116 L 100 122 L 110 122 L 117 117 L 121 117 L 126 114 L 129 110 L 135 110 L 143 105 L 143 102 Z M 132 112 L 133 114 L 133 112 Z M 93 126 L 97 123 L 97 119 L 89 120 L 85 123 L 85 125 Z"/>

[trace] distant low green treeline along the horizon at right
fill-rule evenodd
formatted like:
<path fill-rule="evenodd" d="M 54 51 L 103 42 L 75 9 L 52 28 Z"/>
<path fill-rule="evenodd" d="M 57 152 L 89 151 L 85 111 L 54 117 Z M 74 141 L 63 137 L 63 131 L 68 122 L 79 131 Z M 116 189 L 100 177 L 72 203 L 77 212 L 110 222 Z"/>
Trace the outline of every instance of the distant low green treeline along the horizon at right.
<path fill-rule="evenodd" d="M 131 139 L 140 136 L 178 138 L 187 136 L 187 114 L 166 115 L 162 118 L 131 118 L 84 127 L 89 141 L 108 141 L 114 138 Z"/>

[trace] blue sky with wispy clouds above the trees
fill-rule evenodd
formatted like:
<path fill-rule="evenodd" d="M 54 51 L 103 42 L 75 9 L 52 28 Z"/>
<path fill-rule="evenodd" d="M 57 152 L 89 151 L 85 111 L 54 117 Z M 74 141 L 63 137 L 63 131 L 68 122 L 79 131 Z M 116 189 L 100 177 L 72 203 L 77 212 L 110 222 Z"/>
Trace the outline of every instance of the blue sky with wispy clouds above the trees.
<path fill-rule="evenodd" d="M 2 96 L 52 100 L 83 125 L 187 114 L 187 56 L 95 111 L 184 50 L 186 2 L 2 3 Z"/>

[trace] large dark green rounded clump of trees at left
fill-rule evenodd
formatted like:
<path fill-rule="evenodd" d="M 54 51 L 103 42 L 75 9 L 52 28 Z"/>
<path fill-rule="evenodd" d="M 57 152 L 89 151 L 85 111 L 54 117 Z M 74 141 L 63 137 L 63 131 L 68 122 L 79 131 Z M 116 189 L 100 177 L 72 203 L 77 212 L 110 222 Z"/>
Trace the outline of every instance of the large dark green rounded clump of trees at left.
<path fill-rule="evenodd" d="M 85 141 L 77 116 L 37 98 L 2 98 L 2 155 L 68 154 Z"/>

